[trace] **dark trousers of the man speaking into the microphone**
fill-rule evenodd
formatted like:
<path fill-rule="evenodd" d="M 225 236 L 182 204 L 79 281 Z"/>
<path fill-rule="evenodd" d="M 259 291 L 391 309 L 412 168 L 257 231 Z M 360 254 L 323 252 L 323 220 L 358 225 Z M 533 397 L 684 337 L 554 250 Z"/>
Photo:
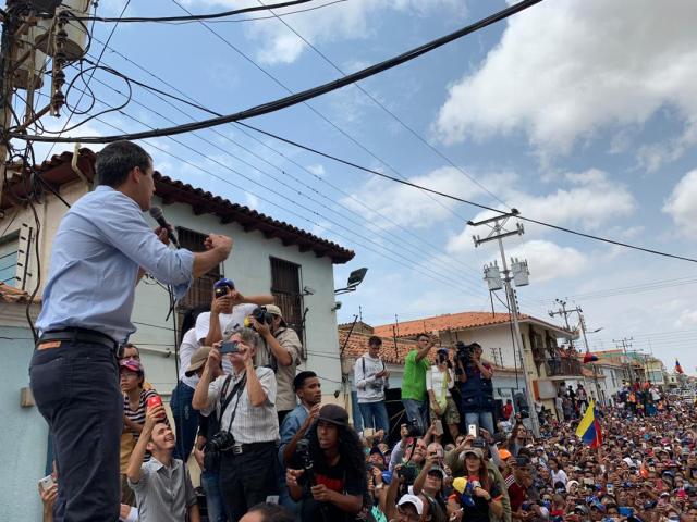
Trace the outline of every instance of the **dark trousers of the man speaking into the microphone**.
<path fill-rule="evenodd" d="M 53 520 L 117 522 L 123 430 L 117 358 L 99 344 L 60 343 L 36 350 L 29 366 L 36 406 L 53 437 Z"/>

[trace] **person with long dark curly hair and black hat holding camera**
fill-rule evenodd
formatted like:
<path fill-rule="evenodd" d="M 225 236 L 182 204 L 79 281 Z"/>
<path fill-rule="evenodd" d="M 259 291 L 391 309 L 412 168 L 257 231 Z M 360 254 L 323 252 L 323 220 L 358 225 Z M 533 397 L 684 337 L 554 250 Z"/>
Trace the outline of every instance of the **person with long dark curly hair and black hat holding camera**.
<path fill-rule="evenodd" d="M 302 469 L 289 468 L 285 481 L 294 500 L 303 500 L 303 522 L 354 521 L 368 485 L 363 447 L 348 425 L 348 413 L 326 405 L 309 433 L 306 451 L 297 455 Z"/>

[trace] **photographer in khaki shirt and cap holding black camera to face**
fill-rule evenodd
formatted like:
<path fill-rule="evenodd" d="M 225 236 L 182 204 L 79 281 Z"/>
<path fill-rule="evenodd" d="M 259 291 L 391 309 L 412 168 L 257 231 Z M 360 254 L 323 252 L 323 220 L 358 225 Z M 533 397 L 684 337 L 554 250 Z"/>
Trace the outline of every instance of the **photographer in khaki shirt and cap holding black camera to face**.
<path fill-rule="evenodd" d="M 258 366 L 270 366 L 276 373 L 276 411 L 281 424 L 297 403 L 293 380 L 295 369 L 301 363 L 303 345 L 295 331 L 288 327 L 281 309 L 276 304 L 256 308 L 250 318 L 252 327 L 259 333 L 266 345 L 257 352 L 255 362 Z"/>

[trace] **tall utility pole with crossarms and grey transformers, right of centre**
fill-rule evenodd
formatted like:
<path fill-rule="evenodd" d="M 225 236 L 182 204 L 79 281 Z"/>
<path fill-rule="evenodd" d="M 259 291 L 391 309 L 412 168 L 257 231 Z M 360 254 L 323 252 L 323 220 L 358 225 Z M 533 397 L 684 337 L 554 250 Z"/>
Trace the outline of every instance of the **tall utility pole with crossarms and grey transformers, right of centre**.
<path fill-rule="evenodd" d="M 501 253 L 501 266 L 503 270 L 499 272 L 499 269 L 496 264 L 489 265 L 485 268 L 485 279 L 489 284 L 490 290 L 501 289 L 501 282 L 505 287 L 506 300 L 509 301 L 509 310 L 510 318 L 513 322 L 513 328 L 515 331 L 515 344 L 518 345 L 518 353 L 521 357 L 521 368 L 523 370 L 523 375 L 525 376 L 525 396 L 528 405 L 528 413 L 530 417 L 530 423 L 533 424 L 533 433 L 536 437 L 540 436 L 540 425 L 537 419 L 537 411 L 535 409 L 535 396 L 533 395 L 533 372 L 528 371 L 528 363 L 533 360 L 530 350 L 528 350 L 525 346 L 525 340 L 523 339 L 523 335 L 521 334 L 521 325 L 518 324 L 518 307 L 517 300 L 515 298 L 515 293 L 513 290 L 513 286 L 511 282 L 515 282 L 516 286 L 524 286 L 528 284 L 528 275 L 529 272 L 527 270 L 527 262 L 519 260 L 511 260 L 511 271 L 509 270 L 509 265 L 505 259 L 505 251 L 503 249 L 503 238 L 509 236 L 522 236 L 525 231 L 521 223 L 516 223 L 514 231 L 506 231 L 504 228 L 506 222 L 511 217 L 515 217 L 518 215 L 518 211 L 516 209 L 511 209 L 510 213 L 499 215 L 497 217 L 491 217 L 488 220 L 482 220 L 477 223 L 468 221 L 467 224 L 469 226 L 481 226 L 488 225 L 491 228 L 489 235 L 485 238 L 480 238 L 479 236 L 473 236 L 475 247 L 488 241 L 498 241 L 499 244 L 499 252 Z M 501 273 L 503 277 L 501 277 Z M 515 350 L 515 345 L 513 346 Z M 529 360 L 528 360 L 528 355 Z"/>

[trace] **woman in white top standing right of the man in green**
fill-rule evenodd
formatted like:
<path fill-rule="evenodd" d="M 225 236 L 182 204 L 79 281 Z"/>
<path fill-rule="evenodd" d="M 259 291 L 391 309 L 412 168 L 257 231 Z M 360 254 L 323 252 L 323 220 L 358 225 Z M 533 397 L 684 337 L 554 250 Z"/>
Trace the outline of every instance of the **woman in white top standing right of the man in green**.
<path fill-rule="evenodd" d="M 449 350 L 439 348 L 437 352 L 438 363 L 430 368 L 426 374 L 426 390 L 430 400 L 431 422 L 439 420 L 448 425 L 453 440 L 460 434 L 460 411 L 450 393 L 455 386 L 452 363 L 449 359 Z"/>

